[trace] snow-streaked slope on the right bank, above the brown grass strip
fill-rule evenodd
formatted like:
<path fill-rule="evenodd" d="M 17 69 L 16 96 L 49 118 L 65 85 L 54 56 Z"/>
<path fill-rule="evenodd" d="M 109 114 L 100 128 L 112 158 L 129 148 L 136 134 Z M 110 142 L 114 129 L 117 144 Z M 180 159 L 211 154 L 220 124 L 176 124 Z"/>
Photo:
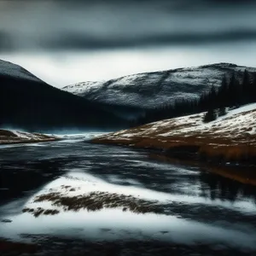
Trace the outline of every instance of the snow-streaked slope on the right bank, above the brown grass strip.
<path fill-rule="evenodd" d="M 204 123 L 205 113 L 197 113 L 175 119 L 165 119 L 130 130 L 110 133 L 99 137 L 96 142 L 122 143 L 132 145 L 135 141 L 152 139 L 150 143 L 158 143 L 161 148 L 168 148 L 170 142 L 186 142 L 186 137 L 193 137 L 195 144 L 227 145 L 246 144 L 256 146 L 256 103 L 230 110 L 218 119 Z M 216 142 L 218 140 L 218 143 Z"/>

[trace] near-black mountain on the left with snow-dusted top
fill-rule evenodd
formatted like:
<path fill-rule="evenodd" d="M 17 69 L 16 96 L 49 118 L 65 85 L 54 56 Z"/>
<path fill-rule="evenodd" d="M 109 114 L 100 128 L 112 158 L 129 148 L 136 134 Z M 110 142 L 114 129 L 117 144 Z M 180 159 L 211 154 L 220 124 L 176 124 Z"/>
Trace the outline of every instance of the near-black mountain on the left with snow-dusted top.
<path fill-rule="evenodd" d="M 117 129 L 127 125 L 108 106 L 56 89 L 26 69 L 0 60 L 1 127 L 57 131 Z"/>

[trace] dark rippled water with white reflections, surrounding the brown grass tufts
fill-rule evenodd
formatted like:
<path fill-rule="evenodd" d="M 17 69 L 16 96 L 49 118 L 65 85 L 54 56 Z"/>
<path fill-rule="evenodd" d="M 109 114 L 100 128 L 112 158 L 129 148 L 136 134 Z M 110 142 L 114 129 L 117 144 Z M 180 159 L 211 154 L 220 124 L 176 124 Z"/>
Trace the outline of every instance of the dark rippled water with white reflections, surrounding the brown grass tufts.
<path fill-rule="evenodd" d="M 33 202 L 49 191 L 132 195 L 162 211 L 22 212 L 51 207 Z M 256 255 L 256 189 L 81 137 L 0 148 L 0 220 L 2 241 L 32 242 L 37 255 Z"/>

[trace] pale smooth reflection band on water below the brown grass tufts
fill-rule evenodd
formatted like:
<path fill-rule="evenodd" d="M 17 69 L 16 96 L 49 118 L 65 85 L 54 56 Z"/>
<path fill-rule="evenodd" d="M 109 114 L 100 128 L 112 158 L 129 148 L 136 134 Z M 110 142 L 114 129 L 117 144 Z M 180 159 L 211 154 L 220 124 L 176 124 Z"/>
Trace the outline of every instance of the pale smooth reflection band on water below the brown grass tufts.
<path fill-rule="evenodd" d="M 97 241 L 154 238 L 184 244 L 224 243 L 226 246 L 256 250 L 253 229 L 226 229 L 220 225 L 152 213 L 135 214 L 108 209 L 98 212 L 62 212 L 60 215 L 40 218 L 25 213 L 12 220 L 8 225 L 2 225 L 5 236 L 19 238 L 18 232 L 31 235 L 64 235 Z"/>

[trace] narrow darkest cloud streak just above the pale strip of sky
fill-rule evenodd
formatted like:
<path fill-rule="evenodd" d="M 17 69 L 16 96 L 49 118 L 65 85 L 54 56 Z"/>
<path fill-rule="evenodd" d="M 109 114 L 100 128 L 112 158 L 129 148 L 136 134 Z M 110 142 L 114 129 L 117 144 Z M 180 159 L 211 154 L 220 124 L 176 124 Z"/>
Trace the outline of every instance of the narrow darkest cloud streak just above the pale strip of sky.
<path fill-rule="evenodd" d="M 44 42 L 43 45 L 49 49 L 108 49 L 108 48 L 125 48 L 136 46 L 150 45 L 172 45 L 172 44 L 212 44 L 237 42 L 243 40 L 256 40 L 256 30 L 253 31 L 230 31 L 203 34 L 174 34 L 162 35 L 158 37 L 129 38 L 116 40 L 108 38 L 106 40 L 98 40 L 96 38 L 84 38 L 80 35 L 68 35 L 67 37 L 55 38 Z"/>

